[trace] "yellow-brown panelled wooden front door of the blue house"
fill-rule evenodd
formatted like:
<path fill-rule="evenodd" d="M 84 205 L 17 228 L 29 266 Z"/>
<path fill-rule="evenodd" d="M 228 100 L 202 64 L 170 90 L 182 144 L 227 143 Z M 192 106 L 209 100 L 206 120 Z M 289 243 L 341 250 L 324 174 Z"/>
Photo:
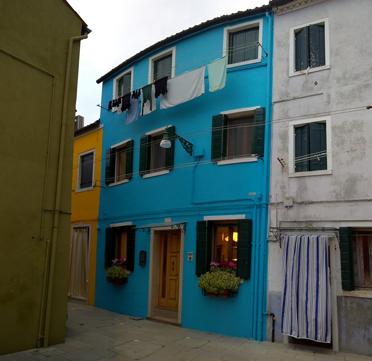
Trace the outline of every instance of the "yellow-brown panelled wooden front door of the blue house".
<path fill-rule="evenodd" d="M 180 232 L 161 232 L 160 241 L 158 305 L 177 310 L 180 271 Z"/>

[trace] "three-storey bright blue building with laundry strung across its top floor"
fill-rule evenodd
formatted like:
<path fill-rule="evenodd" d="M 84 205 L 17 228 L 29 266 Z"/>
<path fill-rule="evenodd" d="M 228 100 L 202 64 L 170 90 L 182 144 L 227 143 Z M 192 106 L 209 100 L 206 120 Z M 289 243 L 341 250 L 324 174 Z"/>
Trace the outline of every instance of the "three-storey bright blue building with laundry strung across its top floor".
<path fill-rule="evenodd" d="M 221 16 L 97 80 L 96 307 L 266 338 L 272 29 L 269 6 Z M 125 285 L 107 283 L 113 258 L 126 258 Z M 211 262 L 236 264 L 237 297 L 203 296 Z"/>

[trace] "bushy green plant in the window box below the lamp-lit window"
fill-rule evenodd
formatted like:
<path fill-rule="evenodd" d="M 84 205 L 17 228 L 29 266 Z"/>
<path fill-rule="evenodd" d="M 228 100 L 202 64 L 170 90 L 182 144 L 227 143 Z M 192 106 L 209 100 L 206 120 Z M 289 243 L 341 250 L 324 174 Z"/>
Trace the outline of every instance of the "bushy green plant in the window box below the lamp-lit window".
<path fill-rule="evenodd" d="M 213 271 L 202 274 L 199 277 L 198 287 L 205 289 L 207 293 L 218 294 L 225 290 L 237 291 L 240 277 L 225 271 Z"/>

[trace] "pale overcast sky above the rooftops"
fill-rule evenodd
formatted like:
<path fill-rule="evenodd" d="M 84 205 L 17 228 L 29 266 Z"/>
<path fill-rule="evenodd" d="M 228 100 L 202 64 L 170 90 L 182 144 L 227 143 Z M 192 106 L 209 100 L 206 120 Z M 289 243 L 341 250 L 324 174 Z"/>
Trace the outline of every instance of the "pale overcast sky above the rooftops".
<path fill-rule="evenodd" d="M 76 115 L 100 117 L 96 80 L 154 43 L 215 17 L 254 9 L 266 0 L 67 0 L 92 30 L 80 42 Z"/>

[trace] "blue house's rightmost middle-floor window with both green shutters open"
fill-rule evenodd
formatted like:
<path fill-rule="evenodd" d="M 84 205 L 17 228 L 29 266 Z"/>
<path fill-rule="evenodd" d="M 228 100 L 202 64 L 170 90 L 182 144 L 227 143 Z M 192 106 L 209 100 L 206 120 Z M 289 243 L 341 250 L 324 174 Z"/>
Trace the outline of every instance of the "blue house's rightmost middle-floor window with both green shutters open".
<path fill-rule="evenodd" d="M 252 154 L 264 154 L 265 108 L 253 116 L 234 117 L 219 114 L 212 117 L 211 159 L 219 161 Z"/>

